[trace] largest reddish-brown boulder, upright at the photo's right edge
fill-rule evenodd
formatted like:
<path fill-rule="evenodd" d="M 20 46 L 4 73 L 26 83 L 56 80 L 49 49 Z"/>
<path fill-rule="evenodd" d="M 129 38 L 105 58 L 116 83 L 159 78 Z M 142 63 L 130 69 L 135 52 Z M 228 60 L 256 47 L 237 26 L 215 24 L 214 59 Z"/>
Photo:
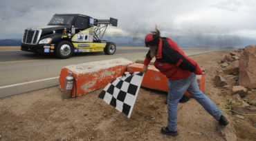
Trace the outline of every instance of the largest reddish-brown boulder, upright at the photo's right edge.
<path fill-rule="evenodd" d="M 256 45 L 248 45 L 239 59 L 239 85 L 256 88 Z"/>

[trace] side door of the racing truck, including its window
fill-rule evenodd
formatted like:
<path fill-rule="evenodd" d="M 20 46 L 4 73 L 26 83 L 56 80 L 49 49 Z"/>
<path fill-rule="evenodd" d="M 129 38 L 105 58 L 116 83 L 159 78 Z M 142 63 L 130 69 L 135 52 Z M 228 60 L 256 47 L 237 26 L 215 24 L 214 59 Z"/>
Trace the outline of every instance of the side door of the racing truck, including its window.
<path fill-rule="evenodd" d="M 89 18 L 77 17 L 73 24 L 75 35 L 72 38 L 74 42 L 93 42 L 93 27 L 89 26 Z"/>

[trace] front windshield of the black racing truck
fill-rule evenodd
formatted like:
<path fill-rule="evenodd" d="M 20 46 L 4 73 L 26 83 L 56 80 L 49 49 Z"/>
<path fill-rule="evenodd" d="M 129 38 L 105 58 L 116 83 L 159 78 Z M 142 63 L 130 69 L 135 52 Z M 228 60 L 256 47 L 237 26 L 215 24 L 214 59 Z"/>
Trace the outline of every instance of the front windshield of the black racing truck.
<path fill-rule="evenodd" d="M 71 25 L 75 16 L 55 14 L 48 25 Z"/>

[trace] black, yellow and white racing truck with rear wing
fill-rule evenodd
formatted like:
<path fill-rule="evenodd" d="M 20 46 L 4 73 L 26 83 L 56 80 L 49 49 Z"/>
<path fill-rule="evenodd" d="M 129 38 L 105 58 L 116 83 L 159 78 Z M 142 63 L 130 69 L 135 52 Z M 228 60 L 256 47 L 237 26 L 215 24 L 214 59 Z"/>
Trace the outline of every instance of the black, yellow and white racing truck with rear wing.
<path fill-rule="evenodd" d="M 84 14 L 54 14 L 46 27 L 26 28 L 21 50 L 36 54 L 55 54 L 69 58 L 79 52 L 114 54 L 116 44 L 102 40 L 108 25 L 118 19 L 93 19 Z"/>

